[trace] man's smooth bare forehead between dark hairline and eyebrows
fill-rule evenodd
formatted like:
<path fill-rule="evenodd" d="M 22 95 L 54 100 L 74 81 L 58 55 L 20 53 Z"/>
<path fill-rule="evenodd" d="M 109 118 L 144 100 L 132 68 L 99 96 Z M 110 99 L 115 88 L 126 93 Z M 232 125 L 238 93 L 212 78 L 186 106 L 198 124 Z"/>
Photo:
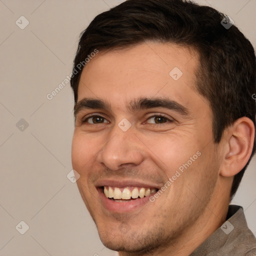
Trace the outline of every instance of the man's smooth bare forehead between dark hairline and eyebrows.
<path fill-rule="evenodd" d="M 124 105 L 134 97 L 169 96 L 187 104 L 191 93 L 198 94 L 197 66 L 197 53 L 175 44 L 147 42 L 99 51 L 83 68 L 78 101 L 93 97 Z"/>

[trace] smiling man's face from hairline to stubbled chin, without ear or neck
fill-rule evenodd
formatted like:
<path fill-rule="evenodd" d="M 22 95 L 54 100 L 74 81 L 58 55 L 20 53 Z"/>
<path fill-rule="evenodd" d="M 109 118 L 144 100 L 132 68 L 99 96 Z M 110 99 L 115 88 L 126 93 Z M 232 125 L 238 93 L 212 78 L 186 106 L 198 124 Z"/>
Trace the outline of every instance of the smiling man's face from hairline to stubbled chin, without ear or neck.
<path fill-rule="evenodd" d="M 205 213 L 218 163 L 197 65 L 188 48 L 143 43 L 99 52 L 82 71 L 72 166 L 110 249 L 168 246 Z"/>

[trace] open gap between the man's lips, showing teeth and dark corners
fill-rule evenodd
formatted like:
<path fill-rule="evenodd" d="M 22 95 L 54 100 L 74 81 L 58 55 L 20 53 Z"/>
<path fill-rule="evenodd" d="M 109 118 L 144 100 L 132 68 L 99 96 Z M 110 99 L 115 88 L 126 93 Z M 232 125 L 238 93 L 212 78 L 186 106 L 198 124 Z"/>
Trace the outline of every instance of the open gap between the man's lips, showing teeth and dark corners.
<path fill-rule="evenodd" d="M 154 194 L 158 191 L 158 188 L 150 187 L 111 187 L 111 186 L 102 186 L 102 192 L 105 197 L 116 202 L 128 202 L 131 200 L 143 198 Z"/>

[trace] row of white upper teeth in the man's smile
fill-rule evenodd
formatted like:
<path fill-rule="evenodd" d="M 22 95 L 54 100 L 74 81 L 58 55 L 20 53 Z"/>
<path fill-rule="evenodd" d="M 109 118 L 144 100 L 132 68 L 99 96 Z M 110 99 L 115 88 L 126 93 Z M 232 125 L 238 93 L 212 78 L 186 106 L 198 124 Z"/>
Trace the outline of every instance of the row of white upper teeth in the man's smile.
<path fill-rule="evenodd" d="M 129 187 L 122 188 L 122 191 L 119 187 L 104 186 L 104 194 L 108 198 L 114 199 L 130 199 L 131 198 L 140 198 L 147 196 L 149 194 L 155 193 L 155 188 L 144 188 L 144 187 L 134 187 L 131 191 Z"/>

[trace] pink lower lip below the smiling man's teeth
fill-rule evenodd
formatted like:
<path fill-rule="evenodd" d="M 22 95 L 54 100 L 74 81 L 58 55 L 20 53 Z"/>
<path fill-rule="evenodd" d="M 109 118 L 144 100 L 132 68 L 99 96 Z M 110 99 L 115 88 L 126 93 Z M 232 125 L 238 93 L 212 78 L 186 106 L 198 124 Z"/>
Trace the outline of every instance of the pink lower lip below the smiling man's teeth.
<path fill-rule="evenodd" d="M 140 207 L 142 207 L 143 205 L 145 205 L 147 202 L 149 202 L 149 196 L 153 195 L 150 194 L 148 196 L 145 196 L 143 198 L 137 198 L 135 200 L 131 200 L 128 202 L 116 202 L 114 200 L 111 200 L 107 197 L 105 197 L 105 195 L 102 192 L 102 188 L 98 188 L 98 193 L 99 193 L 99 197 L 100 200 L 103 204 L 103 206 L 112 212 L 129 212 L 129 211 L 133 211 L 136 210 Z"/>

